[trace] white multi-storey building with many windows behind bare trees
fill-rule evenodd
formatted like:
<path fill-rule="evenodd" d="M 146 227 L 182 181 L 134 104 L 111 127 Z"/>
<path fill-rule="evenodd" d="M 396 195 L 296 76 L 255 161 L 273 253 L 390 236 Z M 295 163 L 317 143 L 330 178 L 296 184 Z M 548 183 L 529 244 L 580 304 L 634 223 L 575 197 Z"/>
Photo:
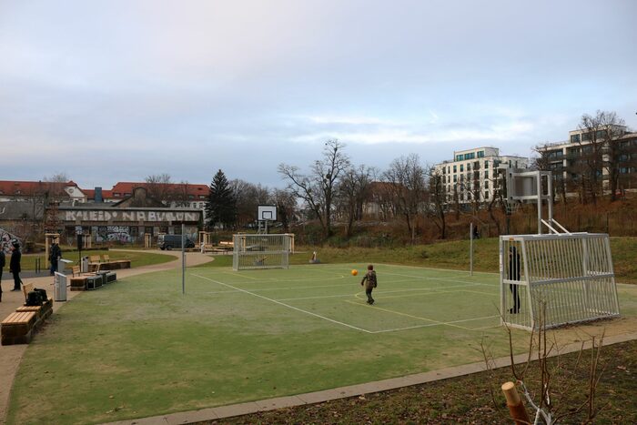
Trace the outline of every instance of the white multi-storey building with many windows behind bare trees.
<path fill-rule="evenodd" d="M 478 200 L 489 202 L 499 184 L 499 171 L 505 168 L 528 168 L 528 157 L 501 156 L 497 147 L 476 147 L 453 153 L 453 160 L 435 166 L 442 177 L 449 203 L 458 197 L 460 204 Z"/>

